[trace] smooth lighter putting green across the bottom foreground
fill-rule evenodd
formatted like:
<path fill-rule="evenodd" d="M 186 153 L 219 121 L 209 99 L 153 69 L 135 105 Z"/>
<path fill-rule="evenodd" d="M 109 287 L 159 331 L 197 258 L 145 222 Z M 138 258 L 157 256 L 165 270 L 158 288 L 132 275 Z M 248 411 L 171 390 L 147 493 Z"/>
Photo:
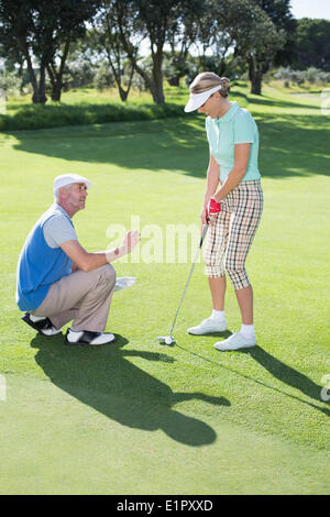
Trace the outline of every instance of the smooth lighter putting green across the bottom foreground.
<path fill-rule="evenodd" d="M 232 426 L 226 406 L 215 418 L 184 404 L 129 408 L 120 396 L 92 389 L 85 396 L 114 418 L 51 382 L 8 376 L 8 398 L 0 403 L 7 422 L 0 433 L 2 494 L 328 492 L 328 454 Z M 122 404 L 124 426 L 116 418 Z"/>

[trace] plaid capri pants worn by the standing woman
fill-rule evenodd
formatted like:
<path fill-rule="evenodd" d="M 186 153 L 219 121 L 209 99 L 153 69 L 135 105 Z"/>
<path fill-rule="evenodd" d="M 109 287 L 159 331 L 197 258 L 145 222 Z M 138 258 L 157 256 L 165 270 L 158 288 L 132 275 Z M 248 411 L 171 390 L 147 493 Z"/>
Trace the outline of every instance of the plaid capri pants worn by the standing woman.
<path fill-rule="evenodd" d="M 245 260 L 263 211 L 260 179 L 241 182 L 221 200 L 209 228 L 204 258 L 211 278 L 228 273 L 235 290 L 250 286 Z"/>

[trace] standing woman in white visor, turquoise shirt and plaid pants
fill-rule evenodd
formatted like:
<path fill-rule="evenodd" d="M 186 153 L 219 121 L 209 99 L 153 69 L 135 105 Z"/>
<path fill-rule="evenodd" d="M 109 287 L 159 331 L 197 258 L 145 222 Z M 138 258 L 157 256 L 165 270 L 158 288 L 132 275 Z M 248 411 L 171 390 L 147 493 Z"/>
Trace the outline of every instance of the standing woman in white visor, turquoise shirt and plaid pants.
<path fill-rule="evenodd" d="M 210 318 L 188 329 L 188 332 L 201 336 L 227 330 L 227 272 L 241 310 L 242 328 L 224 341 L 217 342 L 215 348 L 226 351 L 254 346 L 253 290 L 245 271 L 245 260 L 263 209 L 257 127 L 246 110 L 228 100 L 230 86 L 226 77 L 205 72 L 195 78 L 189 90 L 185 111 L 198 110 L 207 117 L 210 160 L 201 223 L 206 224 L 209 217 L 211 226 L 205 263 L 213 310 Z"/>

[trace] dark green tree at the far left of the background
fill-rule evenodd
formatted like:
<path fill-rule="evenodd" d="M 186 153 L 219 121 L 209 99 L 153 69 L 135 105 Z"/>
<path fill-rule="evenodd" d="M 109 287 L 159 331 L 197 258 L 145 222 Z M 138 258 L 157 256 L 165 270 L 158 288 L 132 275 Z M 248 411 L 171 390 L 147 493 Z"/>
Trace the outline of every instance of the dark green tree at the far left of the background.
<path fill-rule="evenodd" d="M 52 82 L 52 99 L 59 100 L 69 45 L 85 33 L 85 21 L 94 15 L 97 7 L 98 0 L 1 0 L 0 38 L 9 56 L 24 58 L 33 102 L 47 100 L 46 72 Z"/>

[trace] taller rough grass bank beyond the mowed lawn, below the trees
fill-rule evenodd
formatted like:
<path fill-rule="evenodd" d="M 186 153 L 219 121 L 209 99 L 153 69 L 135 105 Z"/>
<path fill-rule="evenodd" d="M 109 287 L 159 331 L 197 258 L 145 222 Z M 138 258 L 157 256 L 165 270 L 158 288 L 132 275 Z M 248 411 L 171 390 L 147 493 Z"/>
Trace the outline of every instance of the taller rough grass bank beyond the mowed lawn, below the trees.
<path fill-rule="evenodd" d="M 234 87 L 233 96 L 246 105 L 244 88 Z M 48 100 L 46 105 L 33 105 L 25 96 L 8 101 L 6 114 L 0 114 L 0 131 L 177 118 L 184 117 L 186 101 L 187 88 L 169 87 L 164 105 L 155 105 L 146 92 L 135 91 L 122 102 L 113 90 L 98 92 L 88 88 L 64 92 L 61 102 Z"/>

